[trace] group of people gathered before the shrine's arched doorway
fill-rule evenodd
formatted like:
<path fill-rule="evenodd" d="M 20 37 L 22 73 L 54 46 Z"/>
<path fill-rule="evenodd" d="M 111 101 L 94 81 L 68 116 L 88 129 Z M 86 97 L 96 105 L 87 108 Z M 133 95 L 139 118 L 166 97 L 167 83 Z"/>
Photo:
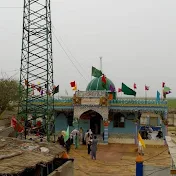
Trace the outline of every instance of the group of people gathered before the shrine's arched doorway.
<path fill-rule="evenodd" d="M 91 129 L 87 130 L 86 133 L 84 133 L 82 128 L 80 128 L 79 131 L 75 129 L 70 133 L 70 138 L 67 141 L 64 141 L 64 136 L 61 135 L 58 137 L 58 142 L 68 153 L 72 144 L 75 145 L 75 149 L 77 149 L 80 144 L 84 144 L 87 146 L 88 154 L 91 154 L 91 158 L 96 160 L 98 140 L 97 136 L 93 135 Z"/>

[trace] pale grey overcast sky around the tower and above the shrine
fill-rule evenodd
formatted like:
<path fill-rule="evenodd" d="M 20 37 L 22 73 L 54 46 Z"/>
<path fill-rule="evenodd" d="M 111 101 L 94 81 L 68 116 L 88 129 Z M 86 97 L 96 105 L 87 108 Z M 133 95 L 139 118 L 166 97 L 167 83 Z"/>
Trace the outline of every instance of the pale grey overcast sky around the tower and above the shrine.
<path fill-rule="evenodd" d="M 23 0 L 0 1 L 0 71 L 16 79 L 22 7 Z M 92 66 L 100 68 L 101 56 L 103 73 L 116 89 L 122 82 L 131 88 L 136 83 L 141 97 L 146 84 L 147 96 L 155 97 L 164 81 L 172 89 L 168 97 L 176 97 L 175 9 L 175 0 L 51 0 L 57 37 L 53 35 L 54 82 L 60 85 L 59 95 L 65 95 L 65 90 L 73 94 L 71 81 L 85 90 Z"/>

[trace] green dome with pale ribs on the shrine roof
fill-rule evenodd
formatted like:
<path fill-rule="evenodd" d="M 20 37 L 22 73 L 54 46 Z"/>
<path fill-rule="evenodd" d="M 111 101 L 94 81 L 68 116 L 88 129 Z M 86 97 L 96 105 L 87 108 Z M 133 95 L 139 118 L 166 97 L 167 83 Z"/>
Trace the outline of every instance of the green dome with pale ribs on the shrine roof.
<path fill-rule="evenodd" d="M 89 91 L 89 90 L 107 90 L 107 91 L 110 91 L 110 85 L 112 85 L 115 88 L 114 83 L 108 78 L 106 78 L 106 89 L 105 89 L 105 87 L 103 87 L 102 77 L 94 78 L 92 81 L 90 81 L 86 90 L 87 91 Z M 116 92 L 116 90 L 115 90 L 115 92 Z"/>

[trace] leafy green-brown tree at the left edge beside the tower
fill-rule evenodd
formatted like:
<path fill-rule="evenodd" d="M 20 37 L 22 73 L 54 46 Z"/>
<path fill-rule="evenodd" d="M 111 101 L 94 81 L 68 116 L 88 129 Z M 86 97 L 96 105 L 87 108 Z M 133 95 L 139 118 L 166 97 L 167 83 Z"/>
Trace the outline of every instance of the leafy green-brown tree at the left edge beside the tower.
<path fill-rule="evenodd" d="M 10 106 L 10 103 L 16 103 L 19 100 L 19 83 L 15 79 L 0 79 L 0 114 Z"/>

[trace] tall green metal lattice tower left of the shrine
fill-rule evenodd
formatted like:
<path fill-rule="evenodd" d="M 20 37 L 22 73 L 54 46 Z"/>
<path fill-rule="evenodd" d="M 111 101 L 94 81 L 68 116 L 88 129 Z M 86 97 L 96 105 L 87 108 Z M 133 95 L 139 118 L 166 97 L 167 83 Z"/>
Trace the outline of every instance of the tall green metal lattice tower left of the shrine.
<path fill-rule="evenodd" d="M 34 87 L 38 89 L 35 94 Z M 18 118 L 24 118 L 25 124 L 29 115 L 43 118 L 48 140 L 54 127 L 52 90 L 50 0 L 24 0 Z"/>

